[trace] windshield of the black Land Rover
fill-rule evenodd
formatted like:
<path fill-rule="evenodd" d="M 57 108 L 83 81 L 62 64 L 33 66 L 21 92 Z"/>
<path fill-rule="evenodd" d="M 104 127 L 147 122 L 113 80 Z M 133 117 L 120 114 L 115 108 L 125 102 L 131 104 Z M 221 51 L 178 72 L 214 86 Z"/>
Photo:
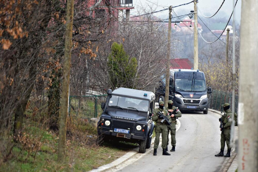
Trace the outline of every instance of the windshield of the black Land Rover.
<path fill-rule="evenodd" d="M 108 102 L 108 106 L 118 106 L 127 109 L 135 109 L 140 111 L 148 111 L 149 110 L 149 101 L 140 100 L 137 98 L 128 98 L 122 96 L 112 95 Z"/>

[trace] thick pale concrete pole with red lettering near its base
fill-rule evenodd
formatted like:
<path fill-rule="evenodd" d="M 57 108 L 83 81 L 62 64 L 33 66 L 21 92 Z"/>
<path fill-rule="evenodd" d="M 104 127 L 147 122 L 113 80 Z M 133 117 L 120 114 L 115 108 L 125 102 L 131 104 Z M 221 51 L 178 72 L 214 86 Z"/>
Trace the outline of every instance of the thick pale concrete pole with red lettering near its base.
<path fill-rule="evenodd" d="M 238 102 L 239 172 L 258 171 L 258 37 L 253 35 L 257 32 L 257 28 L 253 27 L 258 17 L 257 7 L 257 0 L 242 1 Z"/>

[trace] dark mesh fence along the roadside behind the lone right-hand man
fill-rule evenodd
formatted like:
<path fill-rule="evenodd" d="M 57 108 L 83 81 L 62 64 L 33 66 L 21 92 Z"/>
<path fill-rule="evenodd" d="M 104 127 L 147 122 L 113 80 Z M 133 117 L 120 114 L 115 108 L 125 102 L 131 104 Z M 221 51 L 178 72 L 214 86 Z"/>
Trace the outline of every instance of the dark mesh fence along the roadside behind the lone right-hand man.
<path fill-rule="evenodd" d="M 209 108 L 221 111 L 221 104 L 229 103 L 232 104 L 232 93 L 212 90 L 212 94 L 209 95 Z M 235 95 L 235 112 L 237 113 L 238 108 L 238 95 Z"/>

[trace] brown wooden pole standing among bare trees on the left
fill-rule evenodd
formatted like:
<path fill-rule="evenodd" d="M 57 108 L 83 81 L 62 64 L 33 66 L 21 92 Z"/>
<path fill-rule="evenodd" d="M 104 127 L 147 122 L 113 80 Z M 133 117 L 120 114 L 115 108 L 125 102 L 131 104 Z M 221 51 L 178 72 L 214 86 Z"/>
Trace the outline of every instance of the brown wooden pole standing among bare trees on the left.
<path fill-rule="evenodd" d="M 73 5 L 74 0 L 67 0 L 66 12 L 66 30 L 64 44 L 64 68 L 63 68 L 63 84 L 60 108 L 59 122 L 59 140 L 58 140 L 58 161 L 63 162 L 65 158 L 66 143 L 66 122 L 68 116 L 68 99 L 69 99 L 69 83 L 70 83 L 70 64 L 72 50 L 72 34 L 73 34 Z"/>

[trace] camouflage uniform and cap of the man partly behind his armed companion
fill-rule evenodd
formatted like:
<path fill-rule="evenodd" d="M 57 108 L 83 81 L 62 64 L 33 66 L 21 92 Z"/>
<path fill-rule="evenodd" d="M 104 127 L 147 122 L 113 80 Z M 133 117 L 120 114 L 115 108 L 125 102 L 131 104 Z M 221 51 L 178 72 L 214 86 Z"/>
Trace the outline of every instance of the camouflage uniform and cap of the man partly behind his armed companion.
<path fill-rule="evenodd" d="M 169 100 L 168 101 L 169 104 L 172 104 L 173 101 L 172 100 Z M 172 111 L 175 110 L 175 109 L 178 109 L 177 107 L 173 106 L 172 107 Z M 165 108 L 165 110 L 170 110 L 168 107 Z M 171 145 L 176 147 L 176 118 L 177 117 L 181 117 L 182 116 L 182 113 L 180 112 L 180 110 L 178 109 L 177 113 L 175 114 L 174 117 L 171 117 L 171 125 L 167 127 L 167 146 L 168 146 L 168 142 L 169 142 L 169 131 L 170 131 L 170 134 L 171 134 Z M 172 149 L 170 150 L 171 152 L 174 152 L 174 149 L 172 151 Z"/>

